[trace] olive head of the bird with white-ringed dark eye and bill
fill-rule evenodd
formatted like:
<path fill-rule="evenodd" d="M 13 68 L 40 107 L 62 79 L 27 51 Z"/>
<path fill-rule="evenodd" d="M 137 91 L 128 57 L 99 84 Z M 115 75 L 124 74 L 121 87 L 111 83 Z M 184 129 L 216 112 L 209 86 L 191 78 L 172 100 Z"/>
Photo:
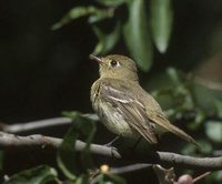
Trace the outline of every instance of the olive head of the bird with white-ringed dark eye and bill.
<path fill-rule="evenodd" d="M 138 81 L 138 70 L 133 60 L 128 57 L 111 54 L 104 58 L 90 55 L 100 65 L 100 78 Z"/>

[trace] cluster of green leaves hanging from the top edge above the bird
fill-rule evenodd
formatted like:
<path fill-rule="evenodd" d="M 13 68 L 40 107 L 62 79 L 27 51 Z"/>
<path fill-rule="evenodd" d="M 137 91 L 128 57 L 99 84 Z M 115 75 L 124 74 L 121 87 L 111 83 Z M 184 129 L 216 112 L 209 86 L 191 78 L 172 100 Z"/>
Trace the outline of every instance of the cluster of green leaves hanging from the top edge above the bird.
<path fill-rule="evenodd" d="M 88 22 L 98 38 L 94 54 L 105 55 L 111 52 L 123 33 L 130 55 L 141 70 L 149 71 L 153 62 L 152 40 L 161 53 L 165 52 L 169 45 L 173 20 L 171 0 L 151 1 L 150 19 L 145 0 L 97 0 L 97 2 L 100 8 L 85 6 L 71 9 L 52 25 L 52 29 L 59 29 L 71 20 L 88 17 Z M 107 28 L 102 27 L 104 20 L 115 22 L 112 31 L 108 32 Z"/>

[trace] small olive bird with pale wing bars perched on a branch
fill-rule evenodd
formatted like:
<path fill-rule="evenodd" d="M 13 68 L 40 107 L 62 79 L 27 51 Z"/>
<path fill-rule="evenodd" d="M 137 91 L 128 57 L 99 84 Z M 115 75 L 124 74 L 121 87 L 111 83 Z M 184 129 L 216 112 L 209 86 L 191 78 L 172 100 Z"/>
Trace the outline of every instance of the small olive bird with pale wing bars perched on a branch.
<path fill-rule="evenodd" d="M 161 132 L 172 132 L 198 145 L 167 120 L 158 102 L 140 86 L 133 60 L 119 54 L 90 58 L 100 65 L 100 79 L 91 88 L 92 108 L 108 130 L 119 136 L 142 136 L 150 144 L 158 143 Z"/>

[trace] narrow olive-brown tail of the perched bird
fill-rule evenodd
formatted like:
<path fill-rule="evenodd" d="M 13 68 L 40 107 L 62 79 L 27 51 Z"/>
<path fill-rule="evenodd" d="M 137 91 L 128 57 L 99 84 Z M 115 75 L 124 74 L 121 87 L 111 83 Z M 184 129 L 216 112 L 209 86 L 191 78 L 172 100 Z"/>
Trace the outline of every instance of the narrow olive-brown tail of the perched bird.
<path fill-rule="evenodd" d="M 200 145 L 195 142 L 195 140 L 192 136 L 190 136 L 184 131 L 171 124 L 162 114 L 157 114 L 152 116 L 151 120 L 165 131 L 172 132 L 175 135 L 180 136 L 181 139 L 190 143 L 193 143 L 195 146 L 200 147 Z"/>

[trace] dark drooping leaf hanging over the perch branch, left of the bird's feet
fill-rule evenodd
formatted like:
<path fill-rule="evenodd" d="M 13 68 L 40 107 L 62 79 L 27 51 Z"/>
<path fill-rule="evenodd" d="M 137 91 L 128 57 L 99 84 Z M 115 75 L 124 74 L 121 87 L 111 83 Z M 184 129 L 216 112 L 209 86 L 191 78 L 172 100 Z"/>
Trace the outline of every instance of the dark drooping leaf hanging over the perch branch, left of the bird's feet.
<path fill-rule="evenodd" d="M 57 161 L 63 174 L 70 180 L 75 180 L 82 170 L 87 171 L 92 165 L 89 149 L 95 132 L 95 126 L 89 119 L 83 117 L 78 112 L 65 112 L 63 114 L 72 119 L 72 125 L 64 135 L 58 150 Z M 81 166 L 79 162 L 77 165 L 74 146 L 77 139 L 80 136 L 83 136 L 84 142 L 87 142 L 84 150 L 81 152 Z"/>

